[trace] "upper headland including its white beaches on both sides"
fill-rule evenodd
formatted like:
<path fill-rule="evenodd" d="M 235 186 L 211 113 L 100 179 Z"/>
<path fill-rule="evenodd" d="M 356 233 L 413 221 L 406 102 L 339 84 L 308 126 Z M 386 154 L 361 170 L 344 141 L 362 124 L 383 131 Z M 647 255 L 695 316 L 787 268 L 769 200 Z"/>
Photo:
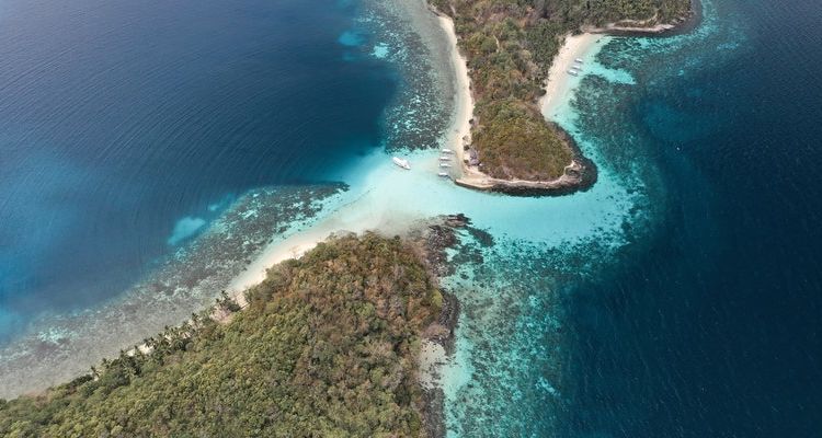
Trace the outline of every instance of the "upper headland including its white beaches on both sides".
<path fill-rule="evenodd" d="M 527 196 L 564 195 L 596 182 L 596 165 L 551 123 L 551 102 L 568 91 L 569 77 L 582 73 L 572 70 L 580 67 L 575 60 L 585 58 L 609 30 L 623 32 L 630 25 L 635 32 L 660 33 L 694 15 L 686 1 L 651 2 L 646 20 L 605 10 L 562 23 L 546 15 L 545 4 L 541 10 L 512 7 L 501 12 L 481 0 L 442 0 L 431 8 L 441 16 L 454 69 L 461 77 L 457 106 L 471 108 L 455 120 L 455 131 L 463 134 L 450 143 L 461 168 L 455 183 Z M 606 21 L 613 18 L 619 20 Z"/>

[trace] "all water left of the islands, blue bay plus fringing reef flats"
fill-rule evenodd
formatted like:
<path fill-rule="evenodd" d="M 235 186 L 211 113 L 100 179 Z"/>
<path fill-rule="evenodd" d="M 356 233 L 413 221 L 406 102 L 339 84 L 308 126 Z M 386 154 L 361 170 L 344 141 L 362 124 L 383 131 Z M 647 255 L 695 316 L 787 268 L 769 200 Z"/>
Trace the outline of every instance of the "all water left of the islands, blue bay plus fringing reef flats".
<path fill-rule="evenodd" d="M 0 396 L 180 323 L 450 112 L 390 4 L 3 8 Z"/>

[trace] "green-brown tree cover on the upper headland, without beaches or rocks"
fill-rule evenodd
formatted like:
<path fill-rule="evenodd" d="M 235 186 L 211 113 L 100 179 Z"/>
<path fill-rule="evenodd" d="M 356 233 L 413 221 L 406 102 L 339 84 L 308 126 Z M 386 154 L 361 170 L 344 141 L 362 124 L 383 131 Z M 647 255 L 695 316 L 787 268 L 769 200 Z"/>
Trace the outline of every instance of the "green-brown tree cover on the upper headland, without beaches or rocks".
<path fill-rule="evenodd" d="M 553 56 L 584 24 L 624 20 L 652 26 L 686 14 L 689 0 L 431 0 L 454 19 L 468 57 L 473 146 L 499 178 L 553 180 L 573 151 L 537 107 Z M 632 25 L 637 25 L 633 23 Z"/>

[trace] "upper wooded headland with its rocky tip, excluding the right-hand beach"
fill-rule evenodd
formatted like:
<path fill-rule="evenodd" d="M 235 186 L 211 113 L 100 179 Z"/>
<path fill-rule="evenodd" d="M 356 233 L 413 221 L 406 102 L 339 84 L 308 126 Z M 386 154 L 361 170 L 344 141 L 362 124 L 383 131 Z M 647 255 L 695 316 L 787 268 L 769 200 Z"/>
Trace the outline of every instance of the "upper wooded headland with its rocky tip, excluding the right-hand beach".
<path fill-rule="evenodd" d="M 567 194 L 596 181 L 594 163 L 539 107 L 566 37 L 583 31 L 660 33 L 692 16 L 690 0 L 431 0 L 431 5 L 453 20 L 446 31 L 456 33 L 467 58 L 476 103 L 470 135 L 457 147 L 464 165 L 456 183 L 515 195 Z"/>

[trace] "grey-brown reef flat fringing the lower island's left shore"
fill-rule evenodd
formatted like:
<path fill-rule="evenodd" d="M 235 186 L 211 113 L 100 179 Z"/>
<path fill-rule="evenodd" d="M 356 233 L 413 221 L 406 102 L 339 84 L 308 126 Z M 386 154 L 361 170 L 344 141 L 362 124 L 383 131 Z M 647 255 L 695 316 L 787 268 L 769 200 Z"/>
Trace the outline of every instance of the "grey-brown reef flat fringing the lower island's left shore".
<path fill-rule="evenodd" d="M 0 346 L 0 399 L 38 394 L 208 309 L 220 290 L 281 237 L 321 221 L 344 185 L 260 187 L 238 196 L 196 238 L 118 296 L 71 313 L 44 313 Z"/>

